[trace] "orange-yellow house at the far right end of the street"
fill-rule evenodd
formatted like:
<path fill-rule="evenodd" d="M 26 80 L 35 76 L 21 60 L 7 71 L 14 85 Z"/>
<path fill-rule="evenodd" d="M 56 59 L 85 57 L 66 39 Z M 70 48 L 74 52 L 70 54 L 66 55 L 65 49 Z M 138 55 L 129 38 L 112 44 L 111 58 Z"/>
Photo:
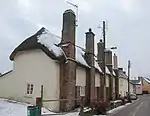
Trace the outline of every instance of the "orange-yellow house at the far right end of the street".
<path fill-rule="evenodd" d="M 150 79 L 146 77 L 141 77 L 142 79 L 142 91 L 143 94 L 150 93 Z"/>

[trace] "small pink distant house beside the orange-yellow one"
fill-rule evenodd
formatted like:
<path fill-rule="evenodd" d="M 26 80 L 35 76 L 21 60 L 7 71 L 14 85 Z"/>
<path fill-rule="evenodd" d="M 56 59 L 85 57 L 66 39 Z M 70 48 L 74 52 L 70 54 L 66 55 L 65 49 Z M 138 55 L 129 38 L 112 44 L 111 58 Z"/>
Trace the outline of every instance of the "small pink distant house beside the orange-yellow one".
<path fill-rule="evenodd" d="M 141 95 L 143 93 L 143 90 L 142 90 L 142 80 L 140 77 L 138 77 L 137 80 L 131 80 L 131 82 L 134 84 L 134 87 L 135 87 L 135 93 L 137 95 Z"/>

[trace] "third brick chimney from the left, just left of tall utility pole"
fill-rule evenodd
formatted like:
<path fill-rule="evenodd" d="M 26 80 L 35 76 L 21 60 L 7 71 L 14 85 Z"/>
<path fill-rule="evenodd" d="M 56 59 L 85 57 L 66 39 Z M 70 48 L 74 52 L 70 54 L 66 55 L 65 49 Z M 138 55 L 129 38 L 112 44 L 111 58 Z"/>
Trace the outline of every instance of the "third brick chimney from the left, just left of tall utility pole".
<path fill-rule="evenodd" d="M 100 42 L 97 43 L 97 59 L 98 59 L 98 64 L 101 67 L 102 71 L 104 71 L 104 66 L 103 66 L 103 59 L 104 59 L 104 43 L 102 40 L 100 40 Z M 102 77 L 100 79 L 100 98 L 101 99 L 106 99 L 106 89 L 105 89 L 105 79 L 104 77 Z"/>

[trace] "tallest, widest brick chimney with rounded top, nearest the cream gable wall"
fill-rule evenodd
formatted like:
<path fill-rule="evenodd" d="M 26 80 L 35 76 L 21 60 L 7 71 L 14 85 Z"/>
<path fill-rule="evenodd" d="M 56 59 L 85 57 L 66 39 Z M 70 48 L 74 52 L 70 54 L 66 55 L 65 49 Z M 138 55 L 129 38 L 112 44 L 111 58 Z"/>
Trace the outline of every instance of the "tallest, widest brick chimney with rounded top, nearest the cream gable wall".
<path fill-rule="evenodd" d="M 76 16 L 72 10 L 66 10 L 63 13 L 63 29 L 61 44 L 69 43 L 68 46 L 62 46 L 62 49 L 68 58 L 75 59 L 75 22 Z M 76 63 L 68 60 L 67 63 L 60 63 L 60 98 L 68 99 L 67 102 L 60 102 L 60 110 L 70 111 L 75 106 L 75 80 Z"/>

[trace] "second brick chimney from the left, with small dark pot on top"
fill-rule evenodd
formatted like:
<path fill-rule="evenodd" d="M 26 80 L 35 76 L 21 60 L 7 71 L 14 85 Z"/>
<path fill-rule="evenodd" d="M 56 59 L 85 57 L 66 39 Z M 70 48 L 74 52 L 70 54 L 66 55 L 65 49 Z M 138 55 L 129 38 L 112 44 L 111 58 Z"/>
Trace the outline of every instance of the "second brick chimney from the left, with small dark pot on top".
<path fill-rule="evenodd" d="M 86 60 L 90 70 L 87 70 L 87 80 L 86 80 L 86 96 L 87 102 L 93 102 L 95 99 L 95 68 L 94 68 L 94 36 L 92 29 L 86 32 Z"/>

